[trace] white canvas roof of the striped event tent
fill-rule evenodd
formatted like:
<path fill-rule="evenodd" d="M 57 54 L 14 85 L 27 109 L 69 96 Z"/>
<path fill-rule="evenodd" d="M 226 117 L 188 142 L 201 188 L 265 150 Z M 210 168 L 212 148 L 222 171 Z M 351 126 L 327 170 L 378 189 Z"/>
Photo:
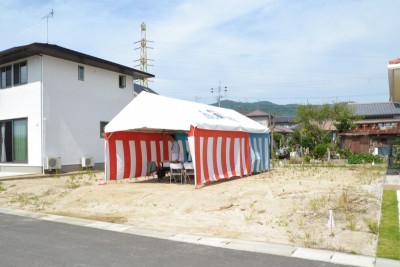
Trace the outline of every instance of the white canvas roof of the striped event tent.
<path fill-rule="evenodd" d="M 141 92 L 105 127 L 117 131 L 190 131 L 201 129 L 265 133 L 268 128 L 226 108 Z"/>

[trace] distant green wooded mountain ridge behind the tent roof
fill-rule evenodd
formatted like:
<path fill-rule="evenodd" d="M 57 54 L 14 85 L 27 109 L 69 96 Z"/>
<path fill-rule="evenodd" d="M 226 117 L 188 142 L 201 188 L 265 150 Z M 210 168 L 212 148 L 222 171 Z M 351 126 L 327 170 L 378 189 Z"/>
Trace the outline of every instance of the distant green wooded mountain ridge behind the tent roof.
<path fill-rule="evenodd" d="M 218 106 L 218 103 L 211 105 Z M 297 104 L 278 105 L 269 101 L 244 103 L 231 100 L 222 100 L 221 107 L 230 108 L 242 114 L 250 113 L 258 109 L 276 116 L 296 116 Z"/>

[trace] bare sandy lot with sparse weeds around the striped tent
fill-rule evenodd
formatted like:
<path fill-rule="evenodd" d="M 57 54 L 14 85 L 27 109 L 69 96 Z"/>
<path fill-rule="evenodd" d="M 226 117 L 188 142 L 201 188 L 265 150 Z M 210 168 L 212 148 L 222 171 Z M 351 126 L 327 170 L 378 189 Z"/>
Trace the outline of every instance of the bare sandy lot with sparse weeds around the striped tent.
<path fill-rule="evenodd" d="M 198 189 L 151 178 L 105 184 L 103 173 L 81 172 L 3 181 L 0 206 L 374 256 L 385 171 L 385 166 L 275 166 Z"/>

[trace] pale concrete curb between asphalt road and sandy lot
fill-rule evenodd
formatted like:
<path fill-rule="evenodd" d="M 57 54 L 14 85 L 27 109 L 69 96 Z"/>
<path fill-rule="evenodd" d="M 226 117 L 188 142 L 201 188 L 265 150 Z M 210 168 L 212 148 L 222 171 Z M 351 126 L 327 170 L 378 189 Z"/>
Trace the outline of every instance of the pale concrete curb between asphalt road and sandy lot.
<path fill-rule="evenodd" d="M 249 252 L 265 253 L 285 257 L 294 257 L 308 260 L 329 262 L 334 264 L 352 265 L 360 267 L 400 267 L 400 261 L 375 258 L 371 256 L 352 255 L 341 252 L 299 248 L 290 245 L 270 244 L 265 242 L 201 236 L 184 233 L 163 232 L 137 228 L 131 225 L 92 221 L 87 219 L 71 218 L 58 215 L 48 215 L 31 211 L 9 208 L 0 208 L 0 213 L 23 216 L 32 219 L 66 223 L 71 225 L 91 227 L 119 233 L 134 234 L 138 236 L 160 238 L 170 241 L 186 242 L 198 245 L 220 247 L 226 249 L 243 250 Z"/>

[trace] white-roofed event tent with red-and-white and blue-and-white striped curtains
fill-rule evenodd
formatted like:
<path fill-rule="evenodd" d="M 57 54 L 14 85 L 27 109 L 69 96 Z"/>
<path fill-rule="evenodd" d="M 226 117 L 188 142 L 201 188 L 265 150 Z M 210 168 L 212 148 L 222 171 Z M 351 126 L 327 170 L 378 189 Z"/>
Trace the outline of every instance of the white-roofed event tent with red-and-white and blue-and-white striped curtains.
<path fill-rule="evenodd" d="M 193 161 L 196 186 L 270 168 L 267 127 L 231 109 L 142 92 L 105 127 L 106 179 L 145 176 L 147 162 L 169 161 L 171 133 L 180 160 Z"/>

